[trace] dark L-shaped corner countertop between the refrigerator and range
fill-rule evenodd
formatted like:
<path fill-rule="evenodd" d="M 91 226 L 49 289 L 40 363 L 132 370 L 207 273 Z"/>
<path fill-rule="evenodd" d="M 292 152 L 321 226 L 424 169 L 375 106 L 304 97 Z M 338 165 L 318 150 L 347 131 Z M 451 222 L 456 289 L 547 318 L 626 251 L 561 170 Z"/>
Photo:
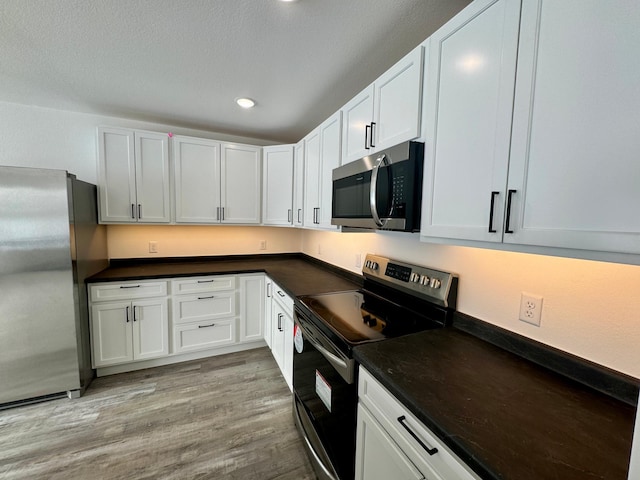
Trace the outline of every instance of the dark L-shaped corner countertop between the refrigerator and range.
<path fill-rule="evenodd" d="M 360 288 L 362 279 L 302 254 L 112 260 L 87 283 L 266 272 L 293 297 Z"/>

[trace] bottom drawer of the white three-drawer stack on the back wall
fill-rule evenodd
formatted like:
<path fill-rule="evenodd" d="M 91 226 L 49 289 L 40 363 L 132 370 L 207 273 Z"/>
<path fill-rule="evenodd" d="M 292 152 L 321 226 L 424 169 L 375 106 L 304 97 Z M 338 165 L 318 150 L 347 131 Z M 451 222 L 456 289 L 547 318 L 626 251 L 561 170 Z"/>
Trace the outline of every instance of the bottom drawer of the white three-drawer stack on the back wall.
<path fill-rule="evenodd" d="M 233 318 L 173 327 L 173 353 L 214 348 L 235 342 L 236 322 Z"/>

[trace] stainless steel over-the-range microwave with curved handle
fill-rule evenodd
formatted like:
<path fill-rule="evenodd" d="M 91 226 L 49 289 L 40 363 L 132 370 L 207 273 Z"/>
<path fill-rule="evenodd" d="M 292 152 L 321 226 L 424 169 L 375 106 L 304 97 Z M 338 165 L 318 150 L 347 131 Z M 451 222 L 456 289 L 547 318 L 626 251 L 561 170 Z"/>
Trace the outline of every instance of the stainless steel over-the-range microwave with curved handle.
<path fill-rule="evenodd" d="M 331 223 L 420 230 L 424 144 L 405 142 L 333 170 Z"/>

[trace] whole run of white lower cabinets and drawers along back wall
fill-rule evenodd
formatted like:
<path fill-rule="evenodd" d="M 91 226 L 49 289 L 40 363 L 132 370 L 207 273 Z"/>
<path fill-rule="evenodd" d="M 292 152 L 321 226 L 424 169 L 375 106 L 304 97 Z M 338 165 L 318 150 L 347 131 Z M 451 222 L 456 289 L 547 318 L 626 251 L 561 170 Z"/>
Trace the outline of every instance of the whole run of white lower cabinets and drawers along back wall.
<path fill-rule="evenodd" d="M 264 278 L 89 285 L 93 367 L 101 376 L 264 345 Z"/>

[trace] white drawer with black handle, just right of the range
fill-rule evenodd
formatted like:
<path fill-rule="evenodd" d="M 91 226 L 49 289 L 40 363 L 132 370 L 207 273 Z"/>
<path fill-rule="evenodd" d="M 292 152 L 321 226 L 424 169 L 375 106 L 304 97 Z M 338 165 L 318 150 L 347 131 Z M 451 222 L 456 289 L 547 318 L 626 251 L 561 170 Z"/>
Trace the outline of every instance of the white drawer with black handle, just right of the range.
<path fill-rule="evenodd" d="M 447 480 L 480 479 L 364 368 L 359 371 L 358 400 L 427 478 L 432 475 Z M 429 454 L 407 428 L 426 447 L 437 451 Z"/>

